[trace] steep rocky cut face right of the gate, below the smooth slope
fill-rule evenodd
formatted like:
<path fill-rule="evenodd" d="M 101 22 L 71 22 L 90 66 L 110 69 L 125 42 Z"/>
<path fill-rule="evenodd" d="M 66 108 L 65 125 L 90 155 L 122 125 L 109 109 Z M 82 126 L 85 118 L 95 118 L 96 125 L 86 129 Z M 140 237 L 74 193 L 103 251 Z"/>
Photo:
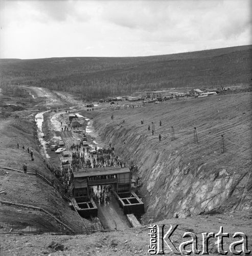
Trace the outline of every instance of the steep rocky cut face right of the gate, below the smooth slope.
<path fill-rule="evenodd" d="M 101 116 L 95 118 L 94 126 L 122 159 L 138 164 L 134 176 L 142 184 L 139 193 L 147 212 L 143 223 L 250 207 L 251 198 L 242 198 L 249 172 L 236 173 L 232 167 L 191 159 L 193 151 L 182 154 L 172 147 L 160 148 L 134 127 L 105 124 Z"/>

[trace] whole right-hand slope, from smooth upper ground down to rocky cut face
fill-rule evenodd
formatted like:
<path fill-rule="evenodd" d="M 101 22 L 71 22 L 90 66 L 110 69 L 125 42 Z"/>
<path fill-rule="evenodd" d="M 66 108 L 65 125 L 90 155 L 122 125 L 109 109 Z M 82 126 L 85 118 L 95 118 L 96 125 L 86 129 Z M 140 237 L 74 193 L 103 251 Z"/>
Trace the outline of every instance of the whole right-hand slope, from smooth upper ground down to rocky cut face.
<path fill-rule="evenodd" d="M 94 125 L 105 142 L 111 142 L 128 163 L 133 160 L 139 166 L 134 175 L 143 183 L 144 219 L 251 207 L 250 97 L 243 93 L 181 99 L 96 116 Z"/>

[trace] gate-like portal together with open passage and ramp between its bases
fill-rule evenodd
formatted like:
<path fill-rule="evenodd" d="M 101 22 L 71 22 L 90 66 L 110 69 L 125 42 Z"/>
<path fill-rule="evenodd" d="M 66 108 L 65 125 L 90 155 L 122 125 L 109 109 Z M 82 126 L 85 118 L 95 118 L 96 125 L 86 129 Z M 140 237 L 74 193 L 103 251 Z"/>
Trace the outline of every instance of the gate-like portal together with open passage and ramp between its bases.
<path fill-rule="evenodd" d="M 144 213 L 144 203 L 131 191 L 128 168 L 88 168 L 74 172 L 73 195 L 84 218 L 99 217 L 104 228 L 128 227 L 125 215 Z M 118 207 L 120 206 L 120 207 Z"/>

